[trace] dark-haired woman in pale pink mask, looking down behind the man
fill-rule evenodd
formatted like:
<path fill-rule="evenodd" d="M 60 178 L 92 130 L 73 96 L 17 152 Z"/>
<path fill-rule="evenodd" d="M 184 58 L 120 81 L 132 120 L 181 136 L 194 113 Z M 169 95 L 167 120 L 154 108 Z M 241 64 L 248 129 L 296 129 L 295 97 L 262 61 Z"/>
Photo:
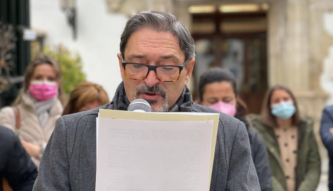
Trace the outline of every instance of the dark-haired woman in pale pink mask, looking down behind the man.
<path fill-rule="evenodd" d="M 199 80 L 199 97 L 201 105 L 234 116 L 245 124 L 260 188 L 265 191 L 272 190 L 271 171 L 265 145 L 255 131 L 249 130 L 249 123 L 245 119 L 246 105 L 237 97 L 236 79 L 233 74 L 222 68 L 212 68 L 203 73 Z"/>

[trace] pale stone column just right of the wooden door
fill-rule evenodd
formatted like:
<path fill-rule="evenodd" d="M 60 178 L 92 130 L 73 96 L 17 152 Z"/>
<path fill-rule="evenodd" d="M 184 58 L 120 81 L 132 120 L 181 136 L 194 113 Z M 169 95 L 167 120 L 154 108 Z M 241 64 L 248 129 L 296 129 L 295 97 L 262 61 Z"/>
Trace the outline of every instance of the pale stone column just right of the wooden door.
<path fill-rule="evenodd" d="M 279 0 L 272 1 L 270 8 L 269 85 L 308 90 L 308 4 L 304 0 Z"/>

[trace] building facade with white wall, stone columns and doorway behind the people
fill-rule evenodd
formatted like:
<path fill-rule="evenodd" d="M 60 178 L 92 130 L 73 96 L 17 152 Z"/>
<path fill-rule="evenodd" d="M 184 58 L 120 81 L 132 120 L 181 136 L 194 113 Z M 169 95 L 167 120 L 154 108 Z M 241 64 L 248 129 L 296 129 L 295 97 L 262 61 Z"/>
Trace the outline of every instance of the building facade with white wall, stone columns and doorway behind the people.
<path fill-rule="evenodd" d="M 66 23 L 60 1 L 30 2 L 32 28 L 45 33 L 45 43 L 63 43 L 71 50 L 78 51 L 83 58 L 83 69 L 88 80 L 101 84 L 110 98 L 121 81 L 116 54 L 127 19 L 145 10 L 172 13 L 192 34 L 196 34 L 197 55 L 200 55 L 200 47 L 204 47 L 205 55 L 212 54 L 211 66 L 226 67 L 234 60 L 240 63 L 240 67 L 235 68 L 235 73 L 240 74 L 237 77 L 242 87 L 240 91 L 246 96 L 252 95 L 254 103 L 260 102 L 265 90 L 272 85 L 289 87 L 297 97 L 301 113 L 314 119 L 318 143 L 321 144 L 318 135 L 321 112 L 326 104 L 333 103 L 332 0 L 80 0 L 75 2 L 76 39 Z M 238 10 L 239 14 L 236 14 L 221 8 L 225 5 L 257 6 L 259 9 Z M 208 15 L 207 18 L 210 12 L 215 15 L 218 12 L 228 22 L 219 21 L 221 25 L 212 26 L 209 22 L 199 21 L 195 9 L 190 8 L 200 6 L 204 8 L 203 15 Z M 215 9 L 209 10 L 212 6 Z M 230 14 L 239 17 L 240 23 L 232 23 Z M 246 20 L 246 17 L 254 19 Z M 197 25 L 196 22 L 201 23 Z M 251 25 L 246 25 L 251 22 Z M 211 27 L 215 27 L 213 34 L 220 38 L 221 43 L 199 43 L 200 38 L 207 39 L 204 36 L 207 36 L 207 30 Z M 246 35 L 242 35 L 244 30 Z M 200 32 L 206 33 L 200 35 Z M 259 56 L 256 55 L 257 51 L 253 51 L 258 49 L 255 47 L 261 50 Z M 237 56 L 233 58 L 232 54 Z M 256 56 L 258 59 L 255 59 Z M 204 58 L 201 60 L 207 60 L 209 56 Z M 200 72 L 210 67 L 208 62 L 204 66 L 204 61 L 199 60 L 197 58 L 195 68 L 198 69 L 188 85 L 194 96 Z M 259 69 L 255 70 L 256 67 Z M 258 75 L 261 77 L 256 78 Z M 249 107 L 253 105 L 249 100 L 247 103 Z M 260 107 L 255 112 L 258 109 Z M 326 155 L 325 149 L 321 148 L 322 155 Z"/>

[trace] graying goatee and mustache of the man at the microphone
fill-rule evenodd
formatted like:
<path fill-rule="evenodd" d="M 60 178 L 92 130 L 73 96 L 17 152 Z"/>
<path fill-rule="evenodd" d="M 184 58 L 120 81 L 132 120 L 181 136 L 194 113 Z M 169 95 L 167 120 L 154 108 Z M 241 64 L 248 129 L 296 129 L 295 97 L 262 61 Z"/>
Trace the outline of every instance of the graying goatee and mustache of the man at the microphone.
<path fill-rule="evenodd" d="M 157 103 L 155 99 L 145 99 L 151 105 L 153 112 L 167 112 L 169 110 L 167 91 L 164 87 L 159 85 L 153 87 L 149 87 L 146 84 L 140 85 L 135 90 L 134 99 L 138 99 L 141 93 L 160 94 L 163 97 L 161 106 L 155 106 Z"/>

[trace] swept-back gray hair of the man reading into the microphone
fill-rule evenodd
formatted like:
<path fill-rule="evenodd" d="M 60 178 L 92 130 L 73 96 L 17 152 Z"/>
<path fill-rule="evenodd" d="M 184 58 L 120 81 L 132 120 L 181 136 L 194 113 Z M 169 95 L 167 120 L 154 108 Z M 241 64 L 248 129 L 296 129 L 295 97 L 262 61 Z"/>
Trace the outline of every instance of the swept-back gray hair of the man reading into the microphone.
<path fill-rule="evenodd" d="M 175 16 L 158 11 L 144 11 L 132 16 L 126 23 L 120 38 L 120 53 L 124 55 L 127 41 L 133 32 L 148 28 L 157 32 L 171 32 L 179 41 L 185 60 L 195 57 L 194 40 L 186 27 Z"/>

